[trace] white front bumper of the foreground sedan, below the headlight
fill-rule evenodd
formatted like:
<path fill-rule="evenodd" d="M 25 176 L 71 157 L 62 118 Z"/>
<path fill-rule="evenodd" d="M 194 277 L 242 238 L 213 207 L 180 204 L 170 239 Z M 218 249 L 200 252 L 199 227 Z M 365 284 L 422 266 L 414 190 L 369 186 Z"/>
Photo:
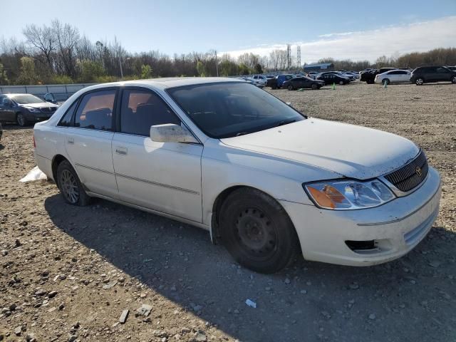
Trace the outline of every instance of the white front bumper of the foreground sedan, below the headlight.
<path fill-rule="evenodd" d="M 410 252 L 435 222 L 440 195 L 440 175 L 430 167 L 418 190 L 380 207 L 342 211 L 280 202 L 294 223 L 304 259 L 369 266 Z M 353 249 L 346 241 L 373 241 L 374 248 Z"/>

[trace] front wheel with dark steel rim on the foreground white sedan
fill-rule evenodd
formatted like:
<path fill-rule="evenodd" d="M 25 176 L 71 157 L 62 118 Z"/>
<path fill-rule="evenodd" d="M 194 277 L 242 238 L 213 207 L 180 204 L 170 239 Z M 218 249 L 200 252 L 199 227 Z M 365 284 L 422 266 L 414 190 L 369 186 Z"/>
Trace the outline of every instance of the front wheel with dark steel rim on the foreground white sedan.
<path fill-rule="evenodd" d="M 224 200 L 219 216 L 222 242 L 242 266 L 271 274 L 291 264 L 299 239 L 284 208 L 259 190 L 242 188 Z"/>

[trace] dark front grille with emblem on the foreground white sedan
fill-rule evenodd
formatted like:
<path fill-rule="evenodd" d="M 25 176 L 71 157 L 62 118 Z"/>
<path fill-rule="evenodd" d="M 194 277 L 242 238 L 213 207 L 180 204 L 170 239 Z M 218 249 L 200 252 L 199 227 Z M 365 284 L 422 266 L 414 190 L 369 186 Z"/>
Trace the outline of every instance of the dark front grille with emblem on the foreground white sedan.
<path fill-rule="evenodd" d="M 391 184 L 397 187 L 400 191 L 408 192 L 415 187 L 418 187 L 427 176 L 427 160 L 423 150 L 420 154 L 411 162 L 401 167 L 399 170 L 395 170 L 388 175 L 385 175 L 385 179 Z"/>

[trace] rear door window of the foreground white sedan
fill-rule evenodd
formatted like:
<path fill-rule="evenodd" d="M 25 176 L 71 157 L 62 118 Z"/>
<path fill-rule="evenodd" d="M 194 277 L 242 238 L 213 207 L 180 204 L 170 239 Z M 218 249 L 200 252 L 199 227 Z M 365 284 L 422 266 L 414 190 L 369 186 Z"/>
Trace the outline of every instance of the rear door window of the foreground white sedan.
<path fill-rule="evenodd" d="M 76 112 L 75 127 L 112 130 L 114 100 L 115 90 L 101 90 L 85 95 Z"/>

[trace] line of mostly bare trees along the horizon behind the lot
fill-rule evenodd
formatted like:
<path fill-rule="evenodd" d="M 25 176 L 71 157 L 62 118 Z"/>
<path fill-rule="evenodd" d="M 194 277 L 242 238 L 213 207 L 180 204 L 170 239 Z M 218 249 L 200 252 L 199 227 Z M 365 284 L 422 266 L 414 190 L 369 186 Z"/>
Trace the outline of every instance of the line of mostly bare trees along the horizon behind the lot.
<path fill-rule="evenodd" d="M 160 51 L 130 53 L 120 41 L 90 41 L 76 26 L 54 19 L 49 25 L 28 25 L 23 40 L 1 38 L 0 84 L 103 83 L 119 79 L 170 76 L 238 76 L 289 68 L 286 50 L 276 49 L 268 56 L 244 53 L 237 58 L 192 52 L 168 56 Z M 319 63 L 333 63 L 336 69 L 360 71 L 383 66 L 410 67 L 438 64 L 456 65 L 456 48 L 437 48 L 427 52 L 380 56 L 369 61 L 323 58 Z M 291 69 L 299 70 L 296 58 Z"/>

